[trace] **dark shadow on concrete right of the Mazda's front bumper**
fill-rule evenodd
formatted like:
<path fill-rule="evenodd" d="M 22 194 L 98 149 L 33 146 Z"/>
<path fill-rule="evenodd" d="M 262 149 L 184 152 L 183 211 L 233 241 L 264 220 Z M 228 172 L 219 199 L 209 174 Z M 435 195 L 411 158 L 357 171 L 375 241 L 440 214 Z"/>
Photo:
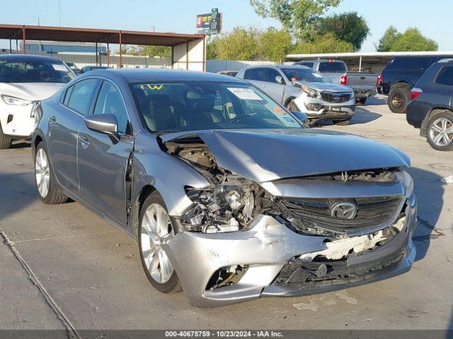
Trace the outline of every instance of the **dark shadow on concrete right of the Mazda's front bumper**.
<path fill-rule="evenodd" d="M 441 182 L 439 174 L 411 167 L 408 169 L 413 177 L 415 196 L 418 201 L 418 226 L 413 236 L 413 242 L 417 249 L 415 261 L 423 259 L 430 247 L 431 239 L 443 237 L 445 234 L 437 230 L 436 225 L 443 207 L 443 195 L 445 183 Z"/>

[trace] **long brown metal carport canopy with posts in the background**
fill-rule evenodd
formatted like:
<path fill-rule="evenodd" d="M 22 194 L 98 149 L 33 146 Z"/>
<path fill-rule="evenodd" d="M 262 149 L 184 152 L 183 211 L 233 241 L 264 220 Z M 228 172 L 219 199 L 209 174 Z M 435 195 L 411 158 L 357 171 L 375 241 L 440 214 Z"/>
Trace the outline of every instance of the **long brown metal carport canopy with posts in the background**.
<path fill-rule="evenodd" d="M 173 55 L 174 64 L 185 64 L 189 69 L 189 63 L 202 63 L 205 69 L 205 35 L 176 34 L 161 32 L 140 32 L 130 30 L 103 30 L 93 28 L 67 28 L 50 26 L 29 25 L 0 25 L 0 39 L 23 40 L 23 52 L 25 53 L 26 40 L 65 41 L 65 42 L 101 42 L 112 44 L 139 44 L 154 46 L 169 46 L 178 54 Z M 185 45 L 185 48 L 181 48 Z M 179 47 L 175 49 L 175 47 Z M 195 59 L 189 59 L 189 54 L 196 49 Z M 179 55 L 179 54 L 185 55 Z M 192 53 L 194 54 L 194 53 Z M 121 48 L 120 48 L 121 55 Z M 175 59 L 176 57 L 176 59 Z"/>

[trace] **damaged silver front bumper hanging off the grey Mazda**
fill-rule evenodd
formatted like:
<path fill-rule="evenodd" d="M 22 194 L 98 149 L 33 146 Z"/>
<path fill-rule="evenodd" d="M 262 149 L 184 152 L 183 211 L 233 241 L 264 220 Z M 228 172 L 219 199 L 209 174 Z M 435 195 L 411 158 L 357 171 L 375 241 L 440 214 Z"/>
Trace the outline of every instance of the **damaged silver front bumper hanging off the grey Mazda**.
<path fill-rule="evenodd" d="M 166 253 L 190 304 L 212 307 L 259 297 L 294 297 L 370 283 L 411 268 L 415 246 L 415 196 L 408 198 L 401 231 L 382 246 L 342 261 L 307 263 L 304 254 L 324 251 L 328 237 L 294 232 L 270 215 L 258 215 L 248 230 L 206 234 L 181 232 Z M 350 239 L 353 239 L 352 237 Z M 357 244 L 355 244 L 357 246 Z M 326 266 L 326 267 L 324 267 Z M 220 268 L 241 267 L 231 285 L 212 288 Z M 316 267 L 324 270 L 316 271 Z"/>

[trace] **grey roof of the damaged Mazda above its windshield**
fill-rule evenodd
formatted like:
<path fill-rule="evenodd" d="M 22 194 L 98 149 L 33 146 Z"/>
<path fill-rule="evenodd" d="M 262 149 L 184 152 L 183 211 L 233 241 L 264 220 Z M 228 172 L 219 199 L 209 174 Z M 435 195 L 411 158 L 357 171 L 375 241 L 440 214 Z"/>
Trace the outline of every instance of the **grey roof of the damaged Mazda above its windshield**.
<path fill-rule="evenodd" d="M 217 73 L 176 69 L 102 69 L 90 71 L 89 76 L 110 76 L 111 78 L 122 76 L 129 83 L 144 83 L 149 81 L 222 81 L 228 83 L 247 83 L 239 78 Z"/>

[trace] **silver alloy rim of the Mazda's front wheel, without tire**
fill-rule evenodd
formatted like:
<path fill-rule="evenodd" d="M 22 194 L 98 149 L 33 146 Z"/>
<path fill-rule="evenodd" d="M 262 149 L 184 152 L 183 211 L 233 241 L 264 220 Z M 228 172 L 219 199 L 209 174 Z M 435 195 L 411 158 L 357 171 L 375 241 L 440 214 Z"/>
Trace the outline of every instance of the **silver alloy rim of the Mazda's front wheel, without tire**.
<path fill-rule="evenodd" d="M 173 227 L 168 213 L 158 203 L 152 203 L 144 213 L 142 220 L 142 256 L 151 277 L 159 284 L 170 280 L 173 265 L 162 248 L 174 237 Z"/>

